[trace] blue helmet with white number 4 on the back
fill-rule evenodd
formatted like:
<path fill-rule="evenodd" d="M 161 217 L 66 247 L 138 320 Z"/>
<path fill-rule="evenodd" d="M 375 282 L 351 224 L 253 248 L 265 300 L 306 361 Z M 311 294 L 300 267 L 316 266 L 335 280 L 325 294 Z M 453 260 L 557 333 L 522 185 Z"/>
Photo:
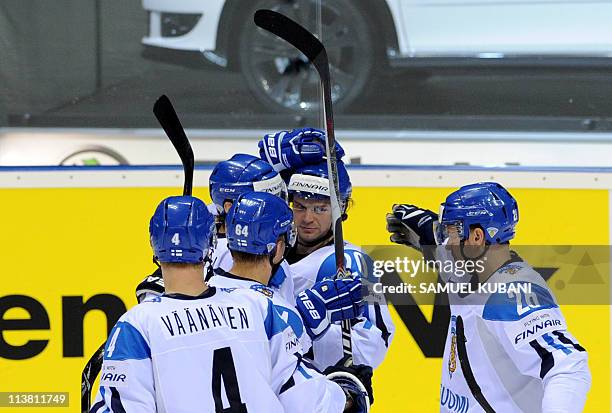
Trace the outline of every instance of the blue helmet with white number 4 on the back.
<path fill-rule="evenodd" d="M 192 196 L 164 199 L 149 222 L 155 259 L 159 262 L 204 262 L 214 247 L 213 215 L 202 200 Z"/>

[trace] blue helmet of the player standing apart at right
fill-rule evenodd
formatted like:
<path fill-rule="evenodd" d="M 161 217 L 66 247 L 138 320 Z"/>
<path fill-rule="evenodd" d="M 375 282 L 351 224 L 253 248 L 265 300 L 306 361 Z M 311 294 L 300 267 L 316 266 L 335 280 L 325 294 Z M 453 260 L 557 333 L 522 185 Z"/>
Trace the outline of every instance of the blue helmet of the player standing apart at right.
<path fill-rule="evenodd" d="M 438 241 L 448 237 L 448 227 L 456 226 L 465 240 L 470 226 L 478 225 L 490 244 L 500 244 L 514 238 L 518 222 L 518 205 L 510 193 L 496 182 L 465 185 L 450 194 L 440 206 Z"/>

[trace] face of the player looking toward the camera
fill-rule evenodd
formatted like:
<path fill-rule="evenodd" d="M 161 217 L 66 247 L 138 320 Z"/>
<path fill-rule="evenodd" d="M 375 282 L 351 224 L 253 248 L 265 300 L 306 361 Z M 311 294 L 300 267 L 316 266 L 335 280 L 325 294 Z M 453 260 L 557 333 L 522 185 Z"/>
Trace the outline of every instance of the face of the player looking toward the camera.
<path fill-rule="evenodd" d="M 329 200 L 295 197 L 293 199 L 293 220 L 299 239 L 306 242 L 318 240 L 331 228 Z"/>

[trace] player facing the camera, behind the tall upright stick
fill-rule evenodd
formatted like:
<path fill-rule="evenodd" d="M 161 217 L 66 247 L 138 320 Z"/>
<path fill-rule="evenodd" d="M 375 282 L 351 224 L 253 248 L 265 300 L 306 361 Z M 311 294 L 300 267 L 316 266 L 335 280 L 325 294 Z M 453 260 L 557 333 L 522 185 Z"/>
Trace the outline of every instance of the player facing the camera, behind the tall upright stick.
<path fill-rule="evenodd" d="M 308 128 L 266 135 L 259 143 L 260 156 L 271 162 L 275 169 L 283 170 L 285 178 L 289 181 L 289 197 L 298 236 L 296 245 L 289 251 L 287 261 L 291 264 L 296 294 L 311 288 L 316 282 L 336 272 L 327 164 L 319 162 L 301 167 L 288 167 L 286 162 L 283 162 L 286 157 L 270 155 L 278 154 L 275 148 L 293 148 L 294 145 L 292 146 L 290 142 L 295 136 L 305 134 L 318 135 L 317 138 L 313 138 L 315 141 L 325 139 L 323 132 Z M 338 178 L 341 208 L 343 218 L 346 219 L 352 186 L 341 160 L 338 161 Z M 359 247 L 345 242 L 345 265 L 354 276 L 366 275 L 369 261 L 369 257 Z M 313 342 L 309 356 L 317 368 L 325 369 L 345 362 L 341 331 L 340 325 L 333 325 L 329 331 Z M 393 333 L 394 325 L 386 304 L 375 302 L 365 307 L 362 316 L 353 320 L 351 336 L 354 363 L 365 364 L 372 368 L 380 365 L 391 344 Z"/>

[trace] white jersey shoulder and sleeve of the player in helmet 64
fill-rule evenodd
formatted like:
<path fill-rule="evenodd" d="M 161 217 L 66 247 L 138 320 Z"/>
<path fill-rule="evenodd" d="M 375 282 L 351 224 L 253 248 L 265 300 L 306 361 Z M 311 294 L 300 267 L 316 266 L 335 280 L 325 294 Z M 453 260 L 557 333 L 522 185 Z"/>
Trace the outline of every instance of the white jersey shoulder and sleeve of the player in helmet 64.
<path fill-rule="evenodd" d="M 283 321 L 289 324 L 295 335 L 298 337 L 299 344 L 295 346 L 295 351 L 303 355 L 310 349 L 311 340 L 306 333 L 306 329 L 304 328 L 302 317 L 300 316 L 299 311 L 295 308 L 295 301 L 287 301 L 278 293 L 278 289 L 266 287 L 257 281 L 230 274 L 221 268 L 217 268 L 215 270 L 215 275 L 208 280 L 208 284 L 213 287 L 222 288 L 247 288 L 265 295 L 272 300 L 274 308 L 276 311 L 278 311 L 280 317 L 283 319 Z"/>

